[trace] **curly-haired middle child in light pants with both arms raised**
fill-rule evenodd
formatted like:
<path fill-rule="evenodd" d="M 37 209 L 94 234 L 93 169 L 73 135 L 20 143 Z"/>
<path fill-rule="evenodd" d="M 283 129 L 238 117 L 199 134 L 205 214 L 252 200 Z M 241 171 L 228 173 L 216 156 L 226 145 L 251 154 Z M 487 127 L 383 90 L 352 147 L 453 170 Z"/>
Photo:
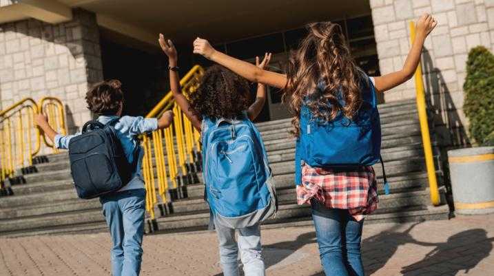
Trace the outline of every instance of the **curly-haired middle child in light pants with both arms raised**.
<path fill-rule="evenodd" d="M 247 80 L 213 65 L 187 100 L 181 94 L 176 49 L 163 34 L 159 43 L 169 59 L 176 103 L 201 131 L 205 199 L 211 211 L 210 226 L 214 224 L 218 234 L 223 274 L 239 275 L 240 248 L 245 275 L 265 275 L 259 224 L 276 213 L 278 206 L 263 140 L 251 122 L 265 103 L 265 86 L 258 85 L 256 100 L 248 105 Z M 265 54 L 262 62 L 257 58 L 258 67 L 265 67 L 270 58 L 271 54 Z"/>

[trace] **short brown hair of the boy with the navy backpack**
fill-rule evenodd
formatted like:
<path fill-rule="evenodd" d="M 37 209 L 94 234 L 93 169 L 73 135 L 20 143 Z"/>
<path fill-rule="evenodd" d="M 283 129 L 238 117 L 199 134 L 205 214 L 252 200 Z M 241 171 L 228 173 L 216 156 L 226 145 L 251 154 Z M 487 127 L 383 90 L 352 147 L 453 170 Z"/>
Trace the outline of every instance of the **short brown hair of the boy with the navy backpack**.
<path fill-rule="evenodd" d="M 118 80 L 96 83 L 85 95 L 88 109 L 98 115 L 116 115 L 123 105 L 121 86 Z"/>

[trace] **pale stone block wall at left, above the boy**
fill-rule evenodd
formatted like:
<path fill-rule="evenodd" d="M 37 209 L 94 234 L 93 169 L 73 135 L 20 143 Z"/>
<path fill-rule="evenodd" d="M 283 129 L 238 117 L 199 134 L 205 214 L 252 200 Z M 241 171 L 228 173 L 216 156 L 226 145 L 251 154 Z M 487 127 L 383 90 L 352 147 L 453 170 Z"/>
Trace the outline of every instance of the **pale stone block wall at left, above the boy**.
<path fill-rule="evenodd" d="M 103 80 L 99 27 L 91 12 L 73 15 L 56 25 L 35 19 L 0 25 L 0 108 L 56 96 L 65 103 L 70 133 L 90 120 L 84 96 Z"/>

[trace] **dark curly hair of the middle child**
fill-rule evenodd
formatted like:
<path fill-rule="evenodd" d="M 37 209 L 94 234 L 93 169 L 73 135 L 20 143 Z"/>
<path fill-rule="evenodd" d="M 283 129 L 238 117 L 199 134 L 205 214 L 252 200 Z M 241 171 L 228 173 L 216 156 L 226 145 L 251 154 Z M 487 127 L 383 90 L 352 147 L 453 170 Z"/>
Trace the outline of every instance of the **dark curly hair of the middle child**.
<path fill-rule="evenodd" d="M 197 116 L 236 118 L 247 110 L 249 82 L 221 65 L 204 73 L 196 92 L 190 95 L 190 109 Z"/>

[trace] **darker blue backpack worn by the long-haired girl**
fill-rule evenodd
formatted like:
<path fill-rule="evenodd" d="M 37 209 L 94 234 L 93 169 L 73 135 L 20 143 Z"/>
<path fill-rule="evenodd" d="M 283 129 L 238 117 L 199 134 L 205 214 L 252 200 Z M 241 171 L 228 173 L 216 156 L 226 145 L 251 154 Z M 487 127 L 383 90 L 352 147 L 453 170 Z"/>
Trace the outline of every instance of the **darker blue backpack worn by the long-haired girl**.
<path fill-rule="evenodd" d="M 324 83 L 319 83 L 320 91 Z M 300 110 L 300 136 L 296 142 L 297 185 L 302 183 L 302 160 L 311 167 L 351 168 L 382 164 L 384 191 L 389 193 L 389 185 L 380 156 L 381 125 L 375 88 L 369 77 L 362 81 L 362 107 L 353 120 L 341 112 L 330 122 L 314 118 L 307 105 Z M 338 97 L 344 105 L 342 95 Z"/>

